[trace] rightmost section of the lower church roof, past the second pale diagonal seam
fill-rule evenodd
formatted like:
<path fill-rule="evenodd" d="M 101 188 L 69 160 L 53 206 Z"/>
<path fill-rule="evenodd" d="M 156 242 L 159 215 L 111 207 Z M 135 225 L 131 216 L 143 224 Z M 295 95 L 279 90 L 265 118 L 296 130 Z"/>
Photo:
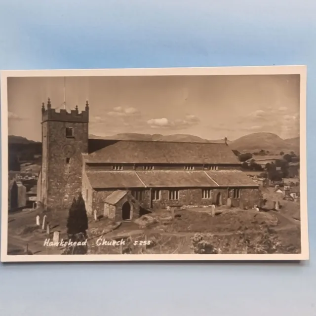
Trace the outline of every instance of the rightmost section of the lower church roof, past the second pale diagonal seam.
<path fill-rule="evenodd" d="M 228 187 L 258 187 L 258 184 L 250 179 L 243 171 L 216 170 L 205 171 L 219 186 Z"/>

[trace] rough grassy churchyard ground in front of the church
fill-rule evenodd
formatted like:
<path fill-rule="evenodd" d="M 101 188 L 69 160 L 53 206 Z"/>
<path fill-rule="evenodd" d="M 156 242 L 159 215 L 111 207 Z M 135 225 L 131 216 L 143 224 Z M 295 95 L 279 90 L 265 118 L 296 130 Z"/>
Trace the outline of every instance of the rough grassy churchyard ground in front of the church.
<path fill-rule="evenodd" d="M 258 212 L 221 206 L 212 217 L 209 208 L 159 210 L 135 222 L 89 220 L 88 254 L 174 253 L 299 253 L 300 222 L 292 218 L 299 205 L 282 211 Z M 36 216 L 47 216 L 49 235 L 36 226 Z M 9 215 L 8 254 L 62 254 L 65 248 L 44 246 L 53 231 L 67 239 L 68 211 L 22 211 Z M 107 244 L 100 244 L 107 240 Z M 109 244 L 123 240 L 124 245 Z M 143 245 L 144 240 L 147 240 Z"/>

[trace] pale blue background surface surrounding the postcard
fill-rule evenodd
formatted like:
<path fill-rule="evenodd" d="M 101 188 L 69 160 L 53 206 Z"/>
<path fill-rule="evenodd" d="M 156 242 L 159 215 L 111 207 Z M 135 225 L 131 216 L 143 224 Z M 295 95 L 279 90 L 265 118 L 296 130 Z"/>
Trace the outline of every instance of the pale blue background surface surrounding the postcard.
<path fill-rule="evenodd" d="M 315 15 L 315 0 L 0 1 L 0 69 L 307 64 L 311 162 L 310 262 L 0 265 L 0 315 L 315 316 Z"/>

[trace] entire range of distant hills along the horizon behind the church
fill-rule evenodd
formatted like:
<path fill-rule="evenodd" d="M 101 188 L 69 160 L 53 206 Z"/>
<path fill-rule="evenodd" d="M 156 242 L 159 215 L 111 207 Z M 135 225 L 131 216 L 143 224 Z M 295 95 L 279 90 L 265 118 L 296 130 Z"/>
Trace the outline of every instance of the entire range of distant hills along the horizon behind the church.
<path fill-rule="evenodd" d="M 112 136 L 102 137 L 97 135 L 89 135 L 92 139 L 118 139 L 118 140 L 142 140 L 157 142 L 196 142 L 196 143 L 225 143 L 224 139 L 204 139 L 194 135 L 187 134 L 140 134 L 140 133 L 120 133 Z M 9 135 L 9 145 L 13 144 L 40 144 L 40 142 L 30 141 L 25 137 Z M 234 141 L 227 140 L 232 150 L 240 153 L 254 153 L 260 150 L 270 151 L 270 153 L 279 154 L 281 151 L 289 153 L 291 151 L 299 153 L 300 138 L 282 139 L 273 133 L 253 133 L 242 136 Z"/>

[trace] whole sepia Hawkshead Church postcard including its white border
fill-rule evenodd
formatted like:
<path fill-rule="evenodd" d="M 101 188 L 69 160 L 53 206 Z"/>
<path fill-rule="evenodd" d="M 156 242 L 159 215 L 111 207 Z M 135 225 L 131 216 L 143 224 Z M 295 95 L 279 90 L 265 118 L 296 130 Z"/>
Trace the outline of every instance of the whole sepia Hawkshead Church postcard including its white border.
<path fill-rule="evenodd" d="M 306 67 L 3 71 L 1 261 L 308 260 Z"/>

